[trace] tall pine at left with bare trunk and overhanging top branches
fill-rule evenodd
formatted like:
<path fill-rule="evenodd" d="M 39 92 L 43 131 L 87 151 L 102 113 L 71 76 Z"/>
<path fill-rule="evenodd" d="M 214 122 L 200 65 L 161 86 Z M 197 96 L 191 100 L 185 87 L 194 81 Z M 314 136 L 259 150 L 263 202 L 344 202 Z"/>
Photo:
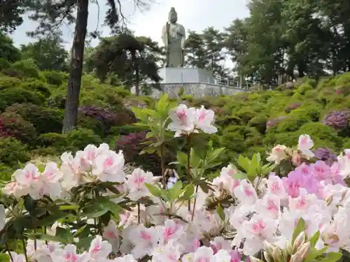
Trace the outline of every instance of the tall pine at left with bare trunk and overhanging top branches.
<path fill-rule="evenodd" d="M 149 0 L 133 1 L 138 7 L 147 7 L 150 3 Z M 31 5 L 34 13 L 30 17 L 40 24 L 31 35 L 55 34 L 62 22 L 75 24 L 62 133 L 74 129 L 77 122 L 89 3 L 89 0 L 36 0 Z M 125 22 L 120 1 L 96 0 L 91 3 L 109 6 L 105 22 L 111 29 L 117 30 L 118 24 Z M 97 36 L 97 32 L 93 31 L 92 36 Z"/>

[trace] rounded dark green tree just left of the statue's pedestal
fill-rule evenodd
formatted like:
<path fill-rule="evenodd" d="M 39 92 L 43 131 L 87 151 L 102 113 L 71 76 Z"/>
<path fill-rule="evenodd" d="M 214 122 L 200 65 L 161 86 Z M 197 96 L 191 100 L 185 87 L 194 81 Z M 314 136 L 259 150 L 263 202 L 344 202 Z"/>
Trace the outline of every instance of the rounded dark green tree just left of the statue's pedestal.
<path fill-rule="evenodd" d="M 151 38 L 123 33 L 102 38 L 87 63 L 102 82 L 109 75 L 117 75 L 127 87 L 135 85 L 138 95 L 140 82 L 146 79 L 160 81 L 158 63 L 162 57 L 162 49 Z"/>

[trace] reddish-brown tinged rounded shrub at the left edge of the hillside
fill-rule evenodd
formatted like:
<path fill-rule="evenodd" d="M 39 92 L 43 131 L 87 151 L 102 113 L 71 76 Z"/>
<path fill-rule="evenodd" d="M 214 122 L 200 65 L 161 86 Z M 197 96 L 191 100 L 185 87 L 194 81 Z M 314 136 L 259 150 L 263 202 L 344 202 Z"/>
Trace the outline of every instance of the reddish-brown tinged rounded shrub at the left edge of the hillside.
<path fill-rule="evenodd" d="M 3 112 L 0 115 L 0 126 L 0 136 L 3 133 L 29 145 L 34 145 L 36 141 L 34 126 L 15 112 Z"/>

